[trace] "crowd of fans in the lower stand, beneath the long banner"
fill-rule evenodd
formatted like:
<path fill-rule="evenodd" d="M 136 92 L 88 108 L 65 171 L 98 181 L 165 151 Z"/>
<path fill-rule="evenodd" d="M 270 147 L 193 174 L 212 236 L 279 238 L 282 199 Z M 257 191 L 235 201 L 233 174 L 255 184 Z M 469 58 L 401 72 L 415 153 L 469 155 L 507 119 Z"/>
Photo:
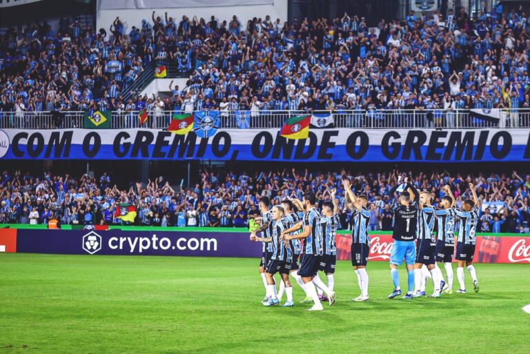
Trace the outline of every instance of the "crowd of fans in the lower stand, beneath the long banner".
<path fill-rule="evenodd" d="M 140 181 L 120 190 L 107 173 L 99 177 L 83 175 L 41 176 L 19 171 L 4 171 L 0 176 L 0 222 L 6 224 L 47 224 L 57 219 L 61 224 L 143 226 L 224 226 L 245 228 L 259 215 L 259 199 L 266 196 L 271 204 L 283 199 L 302 199 L 306 190 L 313 190 L 319 204 L 331 198 L 337 189 L 342 228 L 351 228 L 351 212 L 344 205 L 344 189 L 340 181 L 349 179 L 357 195 L 369 200 L 370 230 L 391 230 L 393 227 L 392 195 L 388 192 L 400 175 L 391 173 L 310 172 L 306 170 L 271 170 L 251 174 L 233 171 L 204 170 L 202 182 L 195 188 L 175 190 L 163 177 L 147 184 Z M 442 187 L 451 186 L 457 207 L 471 194 L 469 182 L 484 210 L 478 230 L 500 233 L 529 233 L 530 175 L 511 174 L 449 175 L 420 173 L 413 183 L 420 190 L 431 191 L 433 205 L 444 196 Z M 134 222 L 117 218 L 117 206 L 133 205 Z M 458 230 L 458 224 L 455 226 Z"/>

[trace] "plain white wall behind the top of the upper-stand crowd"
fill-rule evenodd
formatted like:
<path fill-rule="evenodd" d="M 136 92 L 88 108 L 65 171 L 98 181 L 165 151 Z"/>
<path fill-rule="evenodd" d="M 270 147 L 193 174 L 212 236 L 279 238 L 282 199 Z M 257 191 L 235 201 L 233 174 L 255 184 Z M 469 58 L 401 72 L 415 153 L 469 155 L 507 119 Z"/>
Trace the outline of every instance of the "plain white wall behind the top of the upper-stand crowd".
<path fill-rule="evenodd" d="M 204 2 L 204 1 L 203 1 Z M 211 1 L 212 3 L 222 4 L 226 1 Z M 268 2 L 268 1 L 266 1 Z M 230 2 L 233 3 L 233 2 Z M 242 1 L 244 3 L 244 1 Z M 164 18 L 164 12 L 168 12 L 168 17 L 173 17 L 173 21 L 178 23 L 182 19 L 182 15 L 186 15 L 190 20 L 197 16 L 206 21 L 210 21 L 210 17 L 215 16 L 215 19 L 220 24 L 226 20 L 229 23 L 235 15 L 243 29 L 246 28 L 246 21 L 253 17 L 261 17 L 265 19 L 266 15 L 271 16 L 271 21 L 280 19 L 282 23 L 287 21 L 287 6 L 288 0 L 274 0 L 272 4 L 264 5 L 238 5 L 238 6 L 198 6 L 186 8 L 142 8 L 142 9 L 115 9 L 106 10 L 97 8 L 96 26 L 97 28 L 105 28 L 108 30 L 112 22 L 119 17 L 124 24 L 124 33 L 128 33 L 133 26 L 141 26 L 141 20 L 145 19 L 153 24 L 151 14 L 155 11 L 155 17 L 160 16 Z"/>

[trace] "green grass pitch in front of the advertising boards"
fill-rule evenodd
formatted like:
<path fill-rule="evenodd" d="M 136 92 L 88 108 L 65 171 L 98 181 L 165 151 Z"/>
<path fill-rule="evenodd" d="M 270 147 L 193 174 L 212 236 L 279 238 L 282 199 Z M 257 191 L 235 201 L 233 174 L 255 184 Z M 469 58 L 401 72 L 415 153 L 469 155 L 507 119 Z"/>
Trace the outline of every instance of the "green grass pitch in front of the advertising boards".
<path fill-rule="evenodd" d="M 371 299 L 353 303 L 355 274 L 338 262 L 337 304 L 320 313 L 264 308 L 257 265 L 2 254 L 0 353 L 530 353 L 528 265 L 476 265 L 478 294 L 389 300 L 388 264 L 372 262 Z"/>

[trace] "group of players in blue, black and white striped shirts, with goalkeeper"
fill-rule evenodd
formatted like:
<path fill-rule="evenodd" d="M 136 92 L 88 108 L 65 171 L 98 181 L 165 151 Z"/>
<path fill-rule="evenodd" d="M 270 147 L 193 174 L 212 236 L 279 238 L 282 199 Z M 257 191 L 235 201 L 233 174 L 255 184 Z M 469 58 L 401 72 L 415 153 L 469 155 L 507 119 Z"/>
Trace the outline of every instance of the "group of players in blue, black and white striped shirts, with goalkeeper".
<path fill-rule="evenodd" d="M 453 293 L 453 228 L 457 216 L 460 218 L 455 253 L 460 284 L 457 293 L 466 293 L 464 266 L 467 266 L 473 279 L 474 290 L 478 292 L 473 255 L 480 206 L 473 184 L 469 184 L 473 197 L 465 199 L 461 209 L 455 208 L 455 198 L 449 186 L 444 186 L 444 197 L 439 208 L 434 208 L 431 206 L 431 193 L 418 192 L 411 180 L 411 175 L 403 175 L 389 191 L 391 197 L 400 193 L 393 201 L 394 228 L 390 273 L 394 289 L 388 296 L 389 299 L 402 295 L 397 267 L 403 260 L 408 275 L 408 289 L 404 299 L 424 296 L 425 284 L 429 278 L 434 285 L 431 297 L 440 297 L 441 293 Z M 346 208 L 353 212 L 354 218 L 351 263 L 357 275 L 360 295 L 353 301 L 365 302 L 369 300 L 369 276 L 366 273 L 370 244 L 367 232 L 370 219 L 368 200 L 364 195 L 357 197 L 348 180 L 343 180 L 342 186 Z M 328 301 L 330 306 L 335 304 L 335 236 L 340 225 L 335 193 L 334 189 L 331 201 L 324 201 L 321 213 L 316 207 L 315 193 L 311 191 L 304 193 L 302 201 L 286 199 L 273 208 L 270 208 L 268 197 L 260 199 L 259 210 L 262 216 L 256 219 L 260 226 L 253 230 L 250 238 L 251 241 L 263 243 L 259 273 L 266 288 L 266 295 L 262 300 L 264 306 L 278 305 L 284 293 L 287 299 L 281 306 L 294 306 L 291 277 L 306 293 L 302 302 L 313 302 L 308 311 L 322 311 L 322 301 Z M 436 235 L 435 219 L 438 219 Z M 261 236 L 258 237 L 258 234 Z M 438 263 L 443 264 L 446 279 Z M 327 284 L 320 279 L 319 271 L 326 274 Z M 276 290 L 274 279 L 276 273 L 282 278 L 279 291 Z"/>

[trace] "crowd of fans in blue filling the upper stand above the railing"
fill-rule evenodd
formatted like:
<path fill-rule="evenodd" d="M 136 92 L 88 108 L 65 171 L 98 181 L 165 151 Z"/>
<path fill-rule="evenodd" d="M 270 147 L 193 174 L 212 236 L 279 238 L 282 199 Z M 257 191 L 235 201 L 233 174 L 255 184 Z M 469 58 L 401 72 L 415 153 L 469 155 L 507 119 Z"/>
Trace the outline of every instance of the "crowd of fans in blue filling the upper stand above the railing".
<path fill-rule="evenodd" d="M 530 18 L 498 3 L 403 21 L 157 17 L 107 31 L 62 19 L 0 36 L 0 112 L 530 107 Z M 122 95 L 148 63 L 189 75 L 167 99 Z"/>

